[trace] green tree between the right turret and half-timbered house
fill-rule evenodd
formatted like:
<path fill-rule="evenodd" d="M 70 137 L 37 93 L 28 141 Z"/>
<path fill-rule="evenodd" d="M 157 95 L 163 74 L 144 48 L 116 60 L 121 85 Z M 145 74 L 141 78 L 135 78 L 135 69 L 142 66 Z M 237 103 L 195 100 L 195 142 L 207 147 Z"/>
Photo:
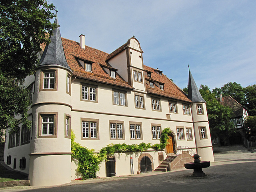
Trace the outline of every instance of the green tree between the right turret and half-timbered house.
<path fill-rule="evenodd" d="M 199 91 L 206 101 L 211 136 L 218 136 L 228 145 L 228 136 L 236 130 L 233 122 L 230 121 L 234 118 L 232 109 L 221 105 L 208 86 L 201 84 Z"/>

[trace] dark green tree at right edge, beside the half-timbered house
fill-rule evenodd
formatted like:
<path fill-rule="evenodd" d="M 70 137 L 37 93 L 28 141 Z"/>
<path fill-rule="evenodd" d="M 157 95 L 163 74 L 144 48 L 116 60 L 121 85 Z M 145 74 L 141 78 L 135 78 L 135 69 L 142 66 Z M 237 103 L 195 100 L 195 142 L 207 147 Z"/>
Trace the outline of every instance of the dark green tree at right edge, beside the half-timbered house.
<path fill-rule="evenodd" d="M 256 116 L 256 84 L 244 88 L 245 104 L 250 116 Z"/>

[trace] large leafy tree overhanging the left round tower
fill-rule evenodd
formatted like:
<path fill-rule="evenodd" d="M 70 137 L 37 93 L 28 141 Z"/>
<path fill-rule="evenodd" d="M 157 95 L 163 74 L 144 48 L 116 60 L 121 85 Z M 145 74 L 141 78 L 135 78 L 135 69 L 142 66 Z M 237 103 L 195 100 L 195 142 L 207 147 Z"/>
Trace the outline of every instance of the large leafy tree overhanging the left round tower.
<path fill-rule="evenodd" d="M 48 36 L 57 27 L 50 22 L 52 10 L 46 0 L 0 1 L 0 136 L 8 128 L 18 131 L 20 123 L 30 128 L 28 92 L 18 82 L 34 74 L 40 45 L 50 42 Z"/>

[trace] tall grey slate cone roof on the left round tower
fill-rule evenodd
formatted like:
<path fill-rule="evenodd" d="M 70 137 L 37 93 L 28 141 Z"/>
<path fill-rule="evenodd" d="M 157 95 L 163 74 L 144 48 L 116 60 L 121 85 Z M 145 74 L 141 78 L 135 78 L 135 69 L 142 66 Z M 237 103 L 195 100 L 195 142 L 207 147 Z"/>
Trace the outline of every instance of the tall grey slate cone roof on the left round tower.
<path fill-rule="evenodd" d="M 57 16 L 54 20 L 54 23 L 59 24 Z M 62 68 L 66 68 L 70 72 L 72 72 L 64 54 L 62 40 L 60 36 L 60 27 L 54 29 L 52 33 L 53 34 L 50 36 L 51 42 L 50 44 L 46 45 L 42 58 L 40 59 L 39 66 L 59 66 Z"/>

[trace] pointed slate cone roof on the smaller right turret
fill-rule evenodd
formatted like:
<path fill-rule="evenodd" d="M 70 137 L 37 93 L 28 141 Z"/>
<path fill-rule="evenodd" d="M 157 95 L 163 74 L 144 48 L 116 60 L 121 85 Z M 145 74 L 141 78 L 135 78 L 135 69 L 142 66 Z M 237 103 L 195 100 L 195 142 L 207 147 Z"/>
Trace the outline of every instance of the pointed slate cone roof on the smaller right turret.
<path fill-rule="evenodd" d="M 189 68 L 188 68 L 188 70 L 189 70 Z M 190 70 L 189 70 L 189 74 L 188 74 L 188 98 L 190 100 L 192 100 L 192 102 L 206 102 L 202 98 Z"/>

